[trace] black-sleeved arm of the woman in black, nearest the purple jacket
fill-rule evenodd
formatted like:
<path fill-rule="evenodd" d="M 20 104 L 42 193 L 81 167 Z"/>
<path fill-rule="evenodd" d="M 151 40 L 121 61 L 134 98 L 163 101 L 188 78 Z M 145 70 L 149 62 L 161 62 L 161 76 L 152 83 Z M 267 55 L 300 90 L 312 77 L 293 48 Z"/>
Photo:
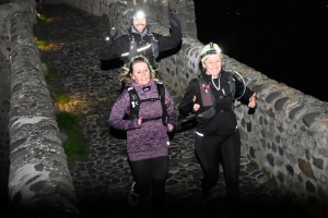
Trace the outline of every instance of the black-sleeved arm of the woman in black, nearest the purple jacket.
<path fill-rule="evenodd" d="M 197 96 L 196 90 L 198 90 L 198 82 L 197 78 L 189 82 L 185 96 L 181 102 L 178 106 L 179 113 L 184 117 L 188 116 L 190 112 L 194 112 L 194 104 L 195 104 L 195 96 Z"/>

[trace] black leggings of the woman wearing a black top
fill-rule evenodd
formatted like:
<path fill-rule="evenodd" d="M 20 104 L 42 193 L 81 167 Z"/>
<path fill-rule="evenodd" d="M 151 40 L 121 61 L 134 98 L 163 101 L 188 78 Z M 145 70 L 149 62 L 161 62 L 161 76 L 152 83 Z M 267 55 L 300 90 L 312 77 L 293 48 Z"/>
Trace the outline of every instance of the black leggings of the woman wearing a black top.
<path fill-rule="evenodd" d="M 236 131 L 229 136 L 200 136 L 196 134 L 195 148 L 204 172 L 201 181 L 202 197 L 208 197 L 219 180 L 222 164 L 229 203 L 239 202 L 241 136 Z"/>

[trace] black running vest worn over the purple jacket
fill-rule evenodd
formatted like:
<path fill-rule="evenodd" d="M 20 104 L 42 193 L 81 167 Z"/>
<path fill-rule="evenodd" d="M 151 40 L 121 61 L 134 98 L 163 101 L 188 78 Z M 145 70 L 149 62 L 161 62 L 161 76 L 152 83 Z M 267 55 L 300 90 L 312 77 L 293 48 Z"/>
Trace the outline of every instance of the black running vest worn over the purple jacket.
<path fill-rule="evenodd" d="M 128 87 L 128 93 L 130 96 L 130 114 L 127 118 L 128 120 L 133 120 L 133 119 L 139 118 L 140 105 L 142 102 L 161 100 L 162 110 L 163 110 L 162 117 L 142 119 L 142 122 L 162 119 L 163 125 L 167 124 L 168 114 L 167 114 L 166 105 L 165 105 L 165 87 L 164 87 L 164 84 L 161 82 L 156 81 L 155 83 L 156 83 L 157 93 L 159 93 L 157 98 L 148 98 L 148 99 L 140 100 L 139 95 L 138 95 L 137 90 L 134 89 L 134 87 Z"/>

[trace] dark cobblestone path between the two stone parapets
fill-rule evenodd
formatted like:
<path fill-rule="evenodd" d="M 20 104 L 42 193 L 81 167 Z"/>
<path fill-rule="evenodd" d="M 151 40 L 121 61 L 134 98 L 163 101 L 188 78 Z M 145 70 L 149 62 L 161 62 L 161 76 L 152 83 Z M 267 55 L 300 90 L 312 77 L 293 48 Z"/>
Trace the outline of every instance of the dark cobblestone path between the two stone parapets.
<path fill-rule="evenodd" d="M 99 60 L 99 46 L 108 31 L 106 17 L 97 17 L 65 4 L 46 4 L 39 10 L 48 23 L 34 26 L 34 35 L 47 40 L 40 49 L 43 63 L 59 73 L 59 86 L 70 102 L 57 110 L 72 111 L 90 146 L 90 156 L 70 161 L 81 217 L 149 217 L 149 199 L 139 210 L 127 205 L 132 175 L 127 161 L 124 134 L 107 124 L 120 85 L 119 70 L 108 69 Z M 106 66 L 106 68 L 104 68 Z M 54 94 L 56 87 L 49 86 Z M 177 99 L 176 99 L 177 101 Z M 207 211 L 198 206 L 202 171 L 195 157 L 194 131 L 175 133 L 169 150 L 166 183 L 166 217 L 227 217 L 223 173 L 212 191 Z M 301 206 L 283 196 L 261 170 L 246 158 L 241 161 L 243 217 L 307 217 Z"/>

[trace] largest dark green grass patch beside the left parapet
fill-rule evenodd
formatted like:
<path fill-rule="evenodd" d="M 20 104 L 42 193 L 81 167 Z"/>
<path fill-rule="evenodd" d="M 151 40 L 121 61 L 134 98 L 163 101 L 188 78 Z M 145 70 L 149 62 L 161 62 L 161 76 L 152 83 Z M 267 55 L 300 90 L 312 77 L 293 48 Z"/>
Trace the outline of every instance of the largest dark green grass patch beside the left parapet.
<path fill-rule="evenodd" d="M 70 112 L 60 112 L 57 116 L 60 129 L 65 130 L 68 140 L 63 143 L 63 149 L 68 160 L 78 160 L 87 157 L 87 143 L 80 130 L 78 116 Z"/>

